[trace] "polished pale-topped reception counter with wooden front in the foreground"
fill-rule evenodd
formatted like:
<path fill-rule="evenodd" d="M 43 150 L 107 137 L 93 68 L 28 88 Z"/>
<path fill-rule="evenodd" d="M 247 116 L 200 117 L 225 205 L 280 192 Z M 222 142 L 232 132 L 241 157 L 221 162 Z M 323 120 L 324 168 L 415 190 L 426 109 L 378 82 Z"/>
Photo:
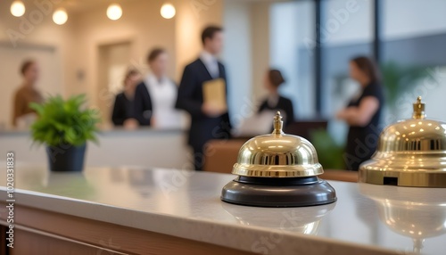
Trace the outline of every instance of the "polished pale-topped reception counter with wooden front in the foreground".
<path fill-rule="evenodd" d="M 4 234 L 4 167 L 0 175 Z M 87 168 L 67 174 L 18 167 L 14 178 L 14 255 L 446 251 L 444 189 L 331 181 L 335 203 L 255 208 L 221 202 L 221 188 L 234 176 L 219 173 Z M 2 236 L 1 249 L 4 242 Z"/>

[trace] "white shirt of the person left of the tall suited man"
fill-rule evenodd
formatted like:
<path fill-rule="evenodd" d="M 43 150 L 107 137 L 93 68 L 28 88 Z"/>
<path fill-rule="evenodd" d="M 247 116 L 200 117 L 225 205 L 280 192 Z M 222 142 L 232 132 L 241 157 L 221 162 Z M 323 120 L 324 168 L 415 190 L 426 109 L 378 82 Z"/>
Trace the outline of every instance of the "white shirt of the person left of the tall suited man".
<path fill-rule="evenodd" d="M 153 74 L 145 77 L 145 86 L 152 100 L 153 127 L 183 127 L 183 116 L 180 111 L 175 109 L 177 86 L 169 78 L 161 78 L 159 80 Z"/>

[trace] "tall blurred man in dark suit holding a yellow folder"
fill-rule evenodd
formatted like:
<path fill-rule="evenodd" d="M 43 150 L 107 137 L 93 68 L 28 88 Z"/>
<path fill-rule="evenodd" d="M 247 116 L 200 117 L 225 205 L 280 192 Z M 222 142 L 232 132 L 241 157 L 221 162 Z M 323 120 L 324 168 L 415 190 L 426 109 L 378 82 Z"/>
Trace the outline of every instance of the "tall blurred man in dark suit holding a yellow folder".
<path fill-rule="evenodd" d="M 222 78 L 226 71 L 217 56 L 223 47 L 223 30 L 210 26 L 202 31 L 203 50 L 194 62 L 186 65 L 178 90 L 177 108 L 191 115 L 188 144 L 194 149 L 195 170 L 202 170 L 203 146 L 211 139 L 228 139 L 231 124 L 227 110 L 217 103 L 203 101 L 202 86 L 206 81 Z"/>

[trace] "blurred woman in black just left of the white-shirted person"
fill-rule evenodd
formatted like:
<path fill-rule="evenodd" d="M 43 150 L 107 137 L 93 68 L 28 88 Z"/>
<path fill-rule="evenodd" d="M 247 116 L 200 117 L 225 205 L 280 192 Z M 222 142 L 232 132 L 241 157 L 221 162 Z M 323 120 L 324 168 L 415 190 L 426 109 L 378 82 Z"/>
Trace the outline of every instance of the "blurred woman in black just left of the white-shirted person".
<path fill-rule="evenodd" d="M 116 95 L 111 121 L 114 126 L 124 126 L 135 128 L 138 122 L 135 119 L 135 110 L 133 99 L 135 97 L 135 88 L 141 76 L 136 70 L 128 70 L 124 78 L 124 91 Z"/>

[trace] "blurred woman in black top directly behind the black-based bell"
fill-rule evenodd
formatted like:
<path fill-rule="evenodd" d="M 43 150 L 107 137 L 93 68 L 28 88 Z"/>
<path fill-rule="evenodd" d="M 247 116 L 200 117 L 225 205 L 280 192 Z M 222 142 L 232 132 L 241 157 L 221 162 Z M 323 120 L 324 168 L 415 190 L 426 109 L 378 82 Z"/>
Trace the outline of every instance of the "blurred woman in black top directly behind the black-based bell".
<path fill-rule="evenodd" d="M 281 111 L 285 126 L 293 123 L 293 102 L 278 94 L 278 88 L 285 82 L 279 70 L 268 70 L 264 79 L 264 86 L 268 90 L 268 97 L 260 104 L 261 111 Z"/>

